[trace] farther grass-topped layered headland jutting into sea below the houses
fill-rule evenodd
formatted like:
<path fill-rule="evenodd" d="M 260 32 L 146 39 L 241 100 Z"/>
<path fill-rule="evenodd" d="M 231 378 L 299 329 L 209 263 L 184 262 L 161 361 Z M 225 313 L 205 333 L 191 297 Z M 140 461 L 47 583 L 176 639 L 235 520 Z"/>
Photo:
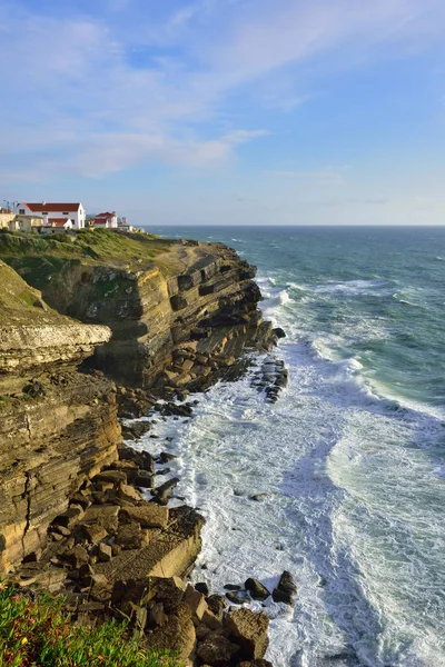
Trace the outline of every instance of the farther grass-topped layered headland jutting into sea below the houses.
<path fill-rule="evenodd" d="M 110 327 L 95 366 L 120 384 L 198 388 L 270 344 L 255 268 L 229 248 L 108 230 L 68 239 L 2 233 L 0 257 L 59 312 Z"/>

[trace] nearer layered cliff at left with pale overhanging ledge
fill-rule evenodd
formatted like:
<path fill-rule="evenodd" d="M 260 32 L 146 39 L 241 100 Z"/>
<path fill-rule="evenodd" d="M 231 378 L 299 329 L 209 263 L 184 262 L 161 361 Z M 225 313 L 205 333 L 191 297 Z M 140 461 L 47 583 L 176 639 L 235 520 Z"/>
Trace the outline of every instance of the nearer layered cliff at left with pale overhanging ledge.
<path fill-rule="evenodd" d="M 61 317 L 0 262 L 0 571 L 37 555 L 70 495 L 117 458 L 113 386 L 76 371 L 110 336 Z"/>

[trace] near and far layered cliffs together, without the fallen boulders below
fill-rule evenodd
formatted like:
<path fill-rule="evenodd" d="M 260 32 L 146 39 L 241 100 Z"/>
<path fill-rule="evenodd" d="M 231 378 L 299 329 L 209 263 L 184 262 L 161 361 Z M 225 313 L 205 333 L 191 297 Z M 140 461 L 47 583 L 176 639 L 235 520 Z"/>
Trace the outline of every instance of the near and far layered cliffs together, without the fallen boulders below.
<path fill-rule="evenodd" d="M 37 557 L 72 494 L 117 459 L 116 388 L 99 370 L 80 374 L 81 361 L 93 352 L 96 369 L 159 396 L 209 385 L 273 332 L 255 269 L 222 245 L 106 230 L 70 241 L 0 235 L 0 255 L 42 292 L 0 262 L 6 570 Z"/>

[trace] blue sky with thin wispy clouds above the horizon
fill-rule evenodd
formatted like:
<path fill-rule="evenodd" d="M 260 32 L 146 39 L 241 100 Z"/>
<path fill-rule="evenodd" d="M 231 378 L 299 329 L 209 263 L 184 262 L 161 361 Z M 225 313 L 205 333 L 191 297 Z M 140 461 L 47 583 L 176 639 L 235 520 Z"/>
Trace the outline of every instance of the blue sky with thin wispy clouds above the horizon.
<path fill-rule="evenodd" d="M 443 225 L 444 0 L 2 0 L 0 197 Z"/>

